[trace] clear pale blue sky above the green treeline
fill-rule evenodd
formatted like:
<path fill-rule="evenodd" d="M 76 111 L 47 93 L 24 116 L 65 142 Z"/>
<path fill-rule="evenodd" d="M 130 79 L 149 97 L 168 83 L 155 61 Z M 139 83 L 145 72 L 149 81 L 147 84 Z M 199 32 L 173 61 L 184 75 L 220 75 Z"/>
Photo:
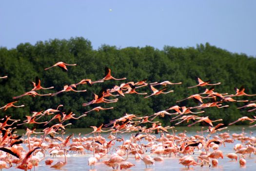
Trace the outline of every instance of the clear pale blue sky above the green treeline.
<path fill-rule="evenodd" d="M 94 49 L 208 42 L 256 57 L 256 0 L 0 0 L 0 46 L 71 37 Z"/>

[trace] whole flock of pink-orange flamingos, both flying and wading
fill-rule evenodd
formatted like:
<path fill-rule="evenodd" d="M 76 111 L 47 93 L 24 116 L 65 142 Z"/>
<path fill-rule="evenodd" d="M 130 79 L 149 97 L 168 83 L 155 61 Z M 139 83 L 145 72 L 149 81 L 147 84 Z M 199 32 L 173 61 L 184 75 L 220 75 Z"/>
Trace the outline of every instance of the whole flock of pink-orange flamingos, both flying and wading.
<path fill-rule="evenodd" d="M 45 68 L 45 70 L 48 70 L 54 66 L 59 66 L 64 71 L 67 71 L 68 69 L 66 65 L 76 64 L 65 64 L 63 62 L 59 62 L 49 68 Z M 7 76 L 0 77 L 0 79 L 6 78 Z M 98 84 L 112 79 L 125 80 L 126 78 L 114 78 L 111 75 L 111 70 L 106 67 L 105 77 L 101 80 L 81 80 L 77 84 L 65 85 L 62 90 L 56 93 L 39 94 L 37 91 L 40 89 L 49 89 L 54 87 L 42 87 L 40 80 L 37 77 L 36 83 L 33 83 L 34 87 L 31 89 L 31 91 L 13 97 L 13 99 L 19 99 L 23 96 L 56 96 L 57 94 L 64 93 L 66 91 L 85 92 L 86 90 L 77 90 L 77 86 L 81 84 L 87 84 L 89 86 L 92 86 L 94 84 Z M 199 78 L 197 78 L 197 81 L 197 85 L 188 88 L 220 84 L 210 84 L 210 81 L 204 82 Z M 171 83 L 169 81 L 164 81 L 162 83 L 146 83 L 146 80 L 139 81 L 137 83 L 123 83 L 121 85 L 115 85 L 111 89 L 102 89 L 98 94 L 93 94 L 93 98 L 90 102 L 84 103 L 82 105 L 88 106 L 91 104 L 99 103 L 117 103 L 117 96 L 125 96 L 125 94 L 133 93 L 145 95 L 145 98 L 149 98 L 151 96 L 159 95 L 162 93 L 171 93 L 173 92 L 173 90 L 166 91 L 166 85 L 177 84 L 181 83 Z M 157 88 L 155 88 L 155 86 L 157 85 L 158 87 L 164 86 L 164 88 L 158 90 Z M 147 95 L 147 93 L 138 92 L 139 88 L 143 86 L 149 86 L 152 90 L 152 94 Z M 144 162 L 145 167 L 147 168 L 152 167 L 152 165 L 154 165 L 155 162 L 163 161 L 164 156 L 171 156 L 172 154 L 179 157 L 179 164 L 184 165 L 188 169 L 190 169 L 190 166 L 196 165 L 212 165 L 212 167 L 217 167 L 218 158 L 223 157 L 229 157 L 232 160 L 239 160 L 240 166 L 245 166 L 245 158 L 249 157 L 249 155 L 251 156 L 251 153 L 253 153 L 254 155 L 256 154 L 256 137 L 252 135 L 250 137 L 245 136 L 244 133 L 234 133 L 232 135 L 229 135 L 229 133 L 225 132 L 215 135 L 213 136 L 213 138 L 211 138 L 211 134 L 216 133 L 218 130 L 226 129 L 228 125 L 235 124 L 239 121 L 248 120 L 251 121 L 250 123 L 254 123 L 256 121 L 256 116 L 254 116 L 254 118 L 244 116 L 237 119 L 233 123 L 219 123 L 217 125 L 214 125 L 214 122 L 222 121 L 222 119 L 211 121 L 208 118 L 208 116 L 199 117 L 197 115 L 190 115 L 203 113 L 204 111 L 202 109 L 206 107 L 229 107 L 228 105 L 222 106 L 223 102 L 249 102 L 248 100 L 235 100 L 234 98 L 236 98 L 236 96 L 256 96 L 256 94 L 246 94 L 244 92 L 244 87 L 241 87 L 239 89 L 236 88 L 235 91 L 236 92 L 231 95 L 228 95 L 227 93 L 217 93 L 214 92 L 214 86 L 212 86 L 209 89 L 206 88 L 205 91 L 200 94 L 194 94 L 183 100 L 177 101 L 178 103 L 184 100 L 193 99 L 197 102 L 198 106 L 173 106 L 149 116 L 137 116 L 134 114 L 126 114 L 121 118 L 118 118 L 114 121 L 110 121 L 109 124 L 106 124 L 104 126 L 105 129 L 102 128 L 103 124 L 98 128 L 92 126 L 94 130 L 91 133 L 85 136 L 81 136 L 81 134 L 79 134 L 78 137 L 74 137 L 74 134 L 71 134 L 67 137 L 63 136 L 63 134 L 65 133 L 65 126 L 70 125 L 63 125 L 64 121 L 69 119 L 79 119 L 81 117 L 85 117 L 91 111 L 113 109 L 113 107 L 95 107 L 83 113 L 77 118 L 71 110 L 69 110 L 68 112 L 61 111 L 59 107 L 62 107 L 62 105 L 59 105 L 59 107 L 56 109 L 49 108 L 47 110 L 33 112 L 32 116 L 26 116 L 27 119 L 24 121 L 14 120 L 11 119 L 10 116 L 5 116 L 4 118 L 0 119 L 0 170 L 8 169 L 15 164 L 16 168 L 27 171 L 31 170 L 33 167 L 35 169 L 35 166 L 39 166 L 39 162 L 42 160 L 44 160 L 45 165 L 49 165 L 50 168 L 60 169 L 64 167 L 68 162 L 66 158 L 68 152 L 76 152 L 81 155 L 84 155 L 86 150 L 88 151 L 88 153 L 90 153 L 89 151 L 91 151 L 91 157 L 88 159 L 88 165 L 91 168 L 95 168 L 95 164 L 98 162 L 104 163 L 108 167 L 113 167 L 113 169 L 120 168 L 122 170 L 135 167 L 135 164 L 127 161 L 128 156 L 131 157 L 132 155 L 135 157 L 135 160 L 141 160 L 142 162 Z M 107 98 L 109 96 L 115 97 L 115 99 Z M 205 99 L 210 99 L 211 102 L 203 102 L 205 101 Z M 7 110 L 7 108 L 9 107 L 24 107 L 24 105 L 15 106 L 15 103 L 17 102 L 18 101 L 8 103 L 7 105 L 0 107 L 0 109 Z M 253 109 L 248 110 L 249 112 L 254 111 L 256 110 L 256 104 L 254 102 L 256 101 L 250 101 L 247 105 L 238 108 L 254 107 Z M 39 118 L 43 118 L 46 115 L 52 116 L 52 119 L 45 122 L 37 122 Z M 176 134 L 176 132 L 174 131 L 174 127 L 162 127 L 159 121 L 154 121 L 155 118 L 164 117 L 165 115 L 173 116 L 170 122 L 177 122 L 178 120 L 180 121 L 175 125 L 178 125 L 184 121 L 192 121 L 192 124 L 188 125 L 188 127 L 191 127 L 196 123 L 202 122 L 206 124 L 208 127 L 207 130 L 202 130 L 202 135 L 203 132 L 208 132 L 209 134 L 207 137 L 204 137 L 202 135 L 194 135 L 188 137 L 186 136 L 185 132 Z M 59 124 L 50 126 L 53 120 L 59 120 Z M 151 126 L 145 127 L 143 125 L 144 123 L 150 123 Z M 36 132 L 36 129 L 30 130 L 27 128 L 25 134 L 26 138 L 24 138 L 25 136 L 19 136 L 15 134 L 16 124 L 17 126 L 23 124 L 44 124 L 45 128 L 41 132 Z M 255 126 L 256 124 L 251 125 L 250 127 Z M 172 130 L 171 132 L 170 129 Z M 121 135 L 121 133 L 133 131 L 138 133 L 131 134 L 130 138 L 127 140 L 125 140 L 123 136 L 116 137 L 118 135 Z M 109 136 L 106 137 L 109 139 L 109 141 L 107 141 L 103 136 L 100 135 L 101 132 L 110 133 Z M 157 138 L 155 135 L 153 135 L 153 132 L 159 132 L 160 138 Z M 39 133 L 42 133 L 40 137 L 31 136 L 33 134 L 37 135 Z M 225 143 L 234 143 L 234 140 L 241 141 L 241 143 L 236 144 L 234 146 L 234 153 L 228 153 L 227 155 L 223 156 L 223 152 L 221 150 L 218 150 L 219 146 L 225 146 Z M 121 142 L 122 145 L 115 146 L 114 148 L 116 141 Z M 142 144 L 141 141 L 147 142 L 147 144 Z M 116 150 L 116 152 L 113 153 L 113 150 Z M 195 150 L 200 151 L 199 155 L 197 156 L 197 159 L 194 159 L 192 156 Z M 150 155 L 147 155 L 146 151 L 150 151 Z M 37 155 L 37 153 L 41 153 L 43 157 L 40 158 Z M 47 159 L 46 153 L 50 154 L 47 155 Z M 62 160 L 58 161 L 57 163 L 53 163 L 54 160 L 52 158 L 56 157 L 57 155 L 64 156 L 64 161 Z M 122 156 L 124 156 L 125 158 L 123 158 Z M 153 156 L 155 157 L 153 158 Z M 102 157 L 108 158 L 108 160 L 102 161 Z"/>

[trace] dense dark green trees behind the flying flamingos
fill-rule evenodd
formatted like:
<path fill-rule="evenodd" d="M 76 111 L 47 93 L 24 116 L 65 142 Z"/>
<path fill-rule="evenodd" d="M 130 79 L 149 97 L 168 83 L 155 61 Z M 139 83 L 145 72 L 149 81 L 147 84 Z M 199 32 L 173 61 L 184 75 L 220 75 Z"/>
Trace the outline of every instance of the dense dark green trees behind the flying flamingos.
<path fill-rule="evenodd" d="M 68 72 L 63 72 L 59 67 L 49 70 L 44 68 L 62 61 L 67 64 Z M 23 118 L 31 115 L 32 111 L 56 108 L 64 105 L 64 110 L 72 109 L 76 116 L 93 107 L 114 107 L 112 110 L 91 112 L 87 117 L 79 120 L 70 120 L 73 128 L 84 128 L 121 117 L 124 113 L 151 115 L 154 112 L 167 109 L 175 105 L 197 106 L 192 100 L 176 103 L 189 95 L 203 92 L 205 87 L 191 88 L 196 85 L 195 77 L 202 80 L 212 80 L 212 83 L 221 82 L 215 91 L 234 94 L 234 87 L 244 85 L 248 94 L 256 94 L 256 58 L 245 54 L 230 53 L 226 50 L 211 46 L 209 43 L 194 47 L 177 48 L 165 46 L 158 50 L 151 46 L 117 48 L 116 46 L 102 45 L 94 50 L 90 41 L 84 38 L 71 38 L 70 40 L 50 40 L 38 42 L 35 45 L 21 43 L 14 49 L 0 48 L 0 76 L 8 75 L 7 79 L 0 79 L 0 107 L 12 102 L 13 96 L 23 94 L 33 88 L 31 82 L 35 82 L 38 76 L 43 87 L 55 86 L 50 90 L 39 90 L 41 94 L 54 93 L 63 89 L 64 85 L 78 83 L 82 79 L 96 81 L 104 77 L 104 68 L 108 66 L 116 78 L 126 77 L 125 82 L 141 81 L 147 79 L 149 83 L 169 80 L 173 83 L 182 82 L 181 85 L 167 86 L 173 93 L 161 94 L 144 99 L 143 95 L 126 94 L 118 97 L 118 103 L 96 104 L 82 107 L 82 103 L 92 100 L 91 93 L 98 93 L 102 86 L 111 87 L 120 85 L 124 81 L 105 81 L 92 87 L 79 85 L 78 89 L 87 89 L 87 92 L 63 92 L 57 96 L 24 96 L 16 105 L 24 104 L 21 108 L 8 108 L 0 111 L 0 117 L 12 115 L 12 118 Z M 161 88 L 157 86 L 157 88 Z M 139 92 L 150 93 L 149 87 L 138 89 Z M 255 100 L 256 97 L 236 97 L 236 100 Z M 253 116 L 246 109 L 239 110 L 236 107 L 244 103 L 226 103 L 228 108 L 206 108 L 201 115 L 211 119 L 222 118 L 224 123 L 235 121 L 242 116 Z M 223 104 L 224 105 L 224 104 Z M 49 120 L 52 116 L 45 116 L 40 121 Z M 171 117 L 157 118 L 163 124 L 170 125 Z M 53 122 L 54 123 L 54 122 Z M 248 122 L 239 122 L 244 124 Z M 174 123 L 173 123 L 174 124 Z M 186 123 L 185 123 L 186 124 Z M 24 125 L 23 127 L 26 127 Z"/>

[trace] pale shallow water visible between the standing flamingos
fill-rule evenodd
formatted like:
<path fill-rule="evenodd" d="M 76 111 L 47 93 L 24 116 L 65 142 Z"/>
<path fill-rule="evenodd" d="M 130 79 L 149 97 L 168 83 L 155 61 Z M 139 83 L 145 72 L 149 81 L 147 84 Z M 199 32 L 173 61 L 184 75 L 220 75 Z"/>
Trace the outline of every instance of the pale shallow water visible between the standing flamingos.
<path fill-rule="evenodd" d="M 229 127 L 228 129 L 224 129 L 218 133 L 221 132 L 229 132 L 230 135 L 232 133 L 241 133 L 242 132 L 242 128 L 245 128 L 244 132 L 247 133 L 247 136 L 250 136 L 250 131 L 252 131 L 254 134 L 256 134 L 256 129 L 255 128 L 248 128 L 248 126 L 232 126 Z M 187 136 L 192 136 L 195 134 L 201 134 L 200 131 L 201 127 L 176 127 L 175 128 L 177 130 L 176 133 L 180 133 L 183 132 L 185 129 L 187 130 L 186 134 Z M 79 129 L 67 129 L 66 130 L 66 135 L 70 135 L 71 133 L 75 134 L 75 137 L 78 136 L 78 133 L 80 132 L 82 135 L 89 133 L 90 131 L 92 131 L 92 129 L 90 128 L 79 128 Z M 22 130 L 19 131 L 19 133 L 21 133 Z M 101 134 L 102 136 L 104 136 L 105 138 L 108 136 L 108 134 Z M 125 139 L 127 139 L 130 136 L 130 133 L 125 133 L 122 134 L 124 136 Z M 204 136 L 206 136 L 207 134 L 204 133 Z M 215 135 L 215 134 L 213 134 Z M 158 134 L 157 137 L 159 137 L 160 135 Z M 120 137 L 117 135 L 117 137 Z M 106 140 L 108 140 L 106 138 Z M 147 143 L 147 142 L 141 142 L 141 143 Z M 220 146 L 219 150 L 223 151 L 223 155 L 224 158 L 218 159 L 218 167 L 217 168 L 213 168 L 209 166 L 192 166 L 190 168 L 190 170 L 194 170 L 194 171 L 236 171 L 236 170 L 241 170 L 241 171 L 255 171 L 256 170 L 256 155 L 252 154 L 251 157 L 249 157 L 249 154 L 245 155 L 246 158 L 246 167 L 241 168 L 239 166 L 239 161 L 231 161 L 231 159 L 227 158 L 225 155 L 227 153 L 230 152 L 235 152 L 233 150 L 234 145 L 240 143 L 240 141 L 235 141 L 233 144 L 230 143 L 226 143 L 226 147 Z M 116 146 L 121 145 L 121 143 L 116 142 Z M 212 149 L 211 149 L 212 151 Z M 150 150 L 148 150 L 146 152 L 146 154 L 150 154 Z M 199 155 L 199 151 L 195 150 L 195 154 L 192 155 L 194 157 L 195 160 L 197 160 L 197 156 Z M 87 152 L 86 150 L 86 154 L 85 155 L 81 155 L 81 154 L 74 154 L 74 153 L 69 153 L 67 156 L 67 165 L 65 165 L 62 169 L 63 171 L 89 171 L 90 167 L 88 166 L 88 158 L 93 156 L 92 152 Z M 100 159 L 100 161 L 103 160 L 108 160 L 109 159 L 110 154 L 104 156 L 102 159 Z M 143 156 L 143 155 L 142 155 Z M 156 157 L 157 155 L 151 155 L 152 157 Z M 55 170 L 50 168 L 50 166 L 46 166 L 44 164 L 44 161 L 47 158 L 51 158 L 49 154 L 46 155 L 45 159 L 43 161 L 41 161 L 39 163 L 39 167 L 36 167 L 36 171 L 50 171 L 50 170 Z M 124 157 L 125 158 L 125 157 Z M 183 165 L 179 164 L 178 162 L 179 157 L 164 157 L 164 161 L 163 162 L 155 162 L 155 166 L 151 166 L 151 168 L 145 168 L 144 162 L 141 160 L 135 160 L 134 159 L 134 155 L 129 156 L 128 160 L 129 162 L 132 162 L 133 164 L 135 164 L 135 167 L 130 168 L 130 171 L 187 171 L 187 168 L 185 168 Z M 239 159 L 238 159 L 239 160 Z M 57 156 L 57 158 L 54 158 L 54 163 L 56 163 L 57 161 L 64 161 L 64 156 Z M 53 163 L 53 164 L 54 164 Z M 9 169 L 9 171 L 14 171 L 15 166 L 13 166 L 11 169 Z M 128 170 L 128 171 L 129 171 Z M 95 166 L 95 169 L 91 170 L 91 171 L 113 171 L 112 168 L 110 167 L 106 167 L 105 164 L 103 163 L 97 163 Z"/>

